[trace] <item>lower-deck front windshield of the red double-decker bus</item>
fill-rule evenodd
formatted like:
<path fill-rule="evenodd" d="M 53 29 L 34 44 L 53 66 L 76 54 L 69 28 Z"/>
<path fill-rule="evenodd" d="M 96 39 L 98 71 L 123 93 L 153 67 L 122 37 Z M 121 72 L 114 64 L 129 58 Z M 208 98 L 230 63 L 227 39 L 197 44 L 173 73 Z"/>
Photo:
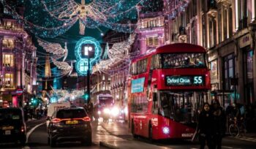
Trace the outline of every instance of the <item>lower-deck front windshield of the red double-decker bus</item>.
<path fill-rule="evenodd" d="M 206 93 L 196 91 L 160 91 L 159 114 L 179 123 L 195 123 L 197 110 L 206 101 Z"/>

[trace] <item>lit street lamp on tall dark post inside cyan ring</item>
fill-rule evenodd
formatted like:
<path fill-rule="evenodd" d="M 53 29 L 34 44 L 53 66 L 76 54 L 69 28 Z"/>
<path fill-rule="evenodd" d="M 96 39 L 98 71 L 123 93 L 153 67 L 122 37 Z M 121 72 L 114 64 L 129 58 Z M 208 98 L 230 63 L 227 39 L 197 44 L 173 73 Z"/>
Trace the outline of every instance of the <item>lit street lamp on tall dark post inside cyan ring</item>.
<path fill-rule="evenodd" d="M 88 60 L 88 68 L 87 68 L 87 98 L 88 98 L 88 103 L 90 102 L 90 58 L 94 58 L 94 45 L 93 44 L 85 44 L 83 45 L 83 50 L 82 53 L 84 58 L 87 58 Z M 86 67 L 86 65 L 85 65 Z M 86 82 L 86 77 L 84 78 L 84 82 Z M 86 85 L 86 83 L 84 83 Z M 84 94 L 86 95 L 86 86 L 84 88 Z"/>

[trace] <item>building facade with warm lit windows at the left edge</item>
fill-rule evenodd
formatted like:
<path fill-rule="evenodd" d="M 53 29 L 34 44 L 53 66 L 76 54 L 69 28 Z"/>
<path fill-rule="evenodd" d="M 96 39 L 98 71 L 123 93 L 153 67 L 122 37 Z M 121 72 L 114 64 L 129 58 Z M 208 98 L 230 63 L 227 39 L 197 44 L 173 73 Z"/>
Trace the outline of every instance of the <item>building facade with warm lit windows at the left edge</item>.
<path fill-rule="evenodd" d="M 18 12 L 23 13 L 22 7 Z M 8 14 L 0 4 L 0 106 L 22 107 L 36 92 L 36 47 L 23 24 Z"/>

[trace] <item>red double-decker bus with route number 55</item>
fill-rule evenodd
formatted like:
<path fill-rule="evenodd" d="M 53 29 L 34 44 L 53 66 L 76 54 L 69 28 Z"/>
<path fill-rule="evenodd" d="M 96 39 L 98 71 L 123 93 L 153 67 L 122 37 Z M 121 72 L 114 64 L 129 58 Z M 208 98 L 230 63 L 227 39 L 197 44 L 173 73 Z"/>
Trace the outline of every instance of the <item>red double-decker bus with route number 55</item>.
<path fill-rule="evenodd" d="M 128 80 L 130 131 L 150 140 L 192 138 L 210 87 L 201 46 L 165 45 L 134 59 Z"/>

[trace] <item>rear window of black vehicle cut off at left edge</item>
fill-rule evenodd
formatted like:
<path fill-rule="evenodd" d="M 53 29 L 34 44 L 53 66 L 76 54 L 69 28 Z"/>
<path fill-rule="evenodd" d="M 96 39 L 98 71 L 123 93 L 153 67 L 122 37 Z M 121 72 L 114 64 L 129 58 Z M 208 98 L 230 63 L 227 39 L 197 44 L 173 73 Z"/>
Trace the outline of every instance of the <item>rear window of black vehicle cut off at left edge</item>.
<path fill-rule="evenodd" d="M 22 121 L 22 114 L 19 109 L 0 109 L 0 123 L 8 121 Z"/>

